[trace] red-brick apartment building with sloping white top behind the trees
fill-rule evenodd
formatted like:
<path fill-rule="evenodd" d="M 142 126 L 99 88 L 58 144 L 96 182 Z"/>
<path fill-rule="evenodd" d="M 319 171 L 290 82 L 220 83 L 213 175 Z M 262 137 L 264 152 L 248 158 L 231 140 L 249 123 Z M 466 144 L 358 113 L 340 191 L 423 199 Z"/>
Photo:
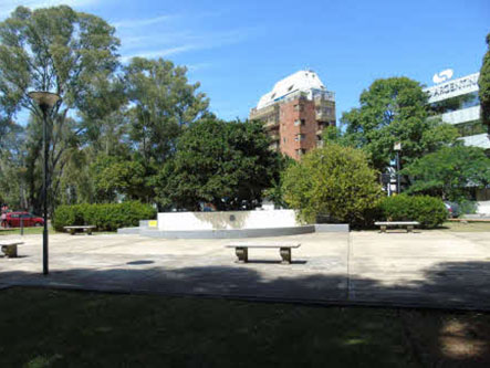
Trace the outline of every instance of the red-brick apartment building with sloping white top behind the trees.
<path fill-rule="evenodd" d="M 313 71 L 299 71 L 275 83 L 250 112 L 263 122 L 273 144 L 271 149 L 299 160 L 322 146 L 322 132 L 335 126 L 335 95 L 326 91 Z"/>

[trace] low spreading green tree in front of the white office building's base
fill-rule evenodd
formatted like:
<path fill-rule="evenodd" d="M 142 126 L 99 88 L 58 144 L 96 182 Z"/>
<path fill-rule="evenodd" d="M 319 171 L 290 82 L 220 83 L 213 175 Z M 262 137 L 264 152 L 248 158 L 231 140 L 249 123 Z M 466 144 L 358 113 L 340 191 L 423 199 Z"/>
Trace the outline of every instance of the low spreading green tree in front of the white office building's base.
<path fill-rule="evenodd" d="M 458 201 L 468 187 L 484 188 L 490 182 L 490 158 L 478 147 L 444 147 L 417 159 L 403 172 L 411 179 L 407 193 Z"/>

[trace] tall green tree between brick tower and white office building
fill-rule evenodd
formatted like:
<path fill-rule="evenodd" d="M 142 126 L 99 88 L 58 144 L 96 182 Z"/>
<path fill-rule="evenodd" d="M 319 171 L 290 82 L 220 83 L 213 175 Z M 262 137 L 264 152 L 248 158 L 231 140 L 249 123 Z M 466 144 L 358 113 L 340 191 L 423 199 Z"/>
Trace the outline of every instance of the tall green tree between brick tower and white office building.
<path fill-rule="evenodd" d="M 418 82 L 407 77 L 377 80 L 359 101 L 361 107 L 342 116 L 346 126 L 343 139 L 365 150 L 378 170 L 395 157 L 393 146 L 397 141 L 402 143 L 404 167 L 458 137 L 455 127 L 427 118 L 427 95 Z"/>

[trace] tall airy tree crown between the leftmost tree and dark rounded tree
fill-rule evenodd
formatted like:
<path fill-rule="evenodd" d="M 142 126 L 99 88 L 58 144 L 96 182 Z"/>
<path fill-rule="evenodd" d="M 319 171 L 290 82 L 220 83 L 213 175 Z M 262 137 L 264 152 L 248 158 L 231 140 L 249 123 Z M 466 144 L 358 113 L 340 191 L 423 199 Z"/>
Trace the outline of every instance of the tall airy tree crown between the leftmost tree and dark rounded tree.
<path fill-rule="evenodd" d="M 163 59 L 135 57 L 125 67 L 129 137 L 145 165 L 165 162 L 181 128 L 207 112 L 208 98 L 197 92 L 199 83 L 188 83 L 186 72 Z"/>

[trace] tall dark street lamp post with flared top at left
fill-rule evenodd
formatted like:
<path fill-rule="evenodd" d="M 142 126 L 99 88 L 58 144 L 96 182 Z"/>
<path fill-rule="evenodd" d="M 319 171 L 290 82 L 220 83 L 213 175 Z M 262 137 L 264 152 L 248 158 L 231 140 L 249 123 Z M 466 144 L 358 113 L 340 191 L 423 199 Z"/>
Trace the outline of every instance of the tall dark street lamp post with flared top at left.
<path fill-rule="evenodd" d="M 34 91 L 29 93 L 31 97 L 39 106 L 42 112 L 42 124 L 43 124 L 43 143 L 44 143 L 44 182 L 42 186 L 43 196 L 43 219 L 44 219 L 44 230 L 42 233 L 42 273 L 44 275 L 49 274 L 48 264 L 48 115 L 53 108 L 53 106 L 61 99 L 59 95 L 51 92 Z"/>

